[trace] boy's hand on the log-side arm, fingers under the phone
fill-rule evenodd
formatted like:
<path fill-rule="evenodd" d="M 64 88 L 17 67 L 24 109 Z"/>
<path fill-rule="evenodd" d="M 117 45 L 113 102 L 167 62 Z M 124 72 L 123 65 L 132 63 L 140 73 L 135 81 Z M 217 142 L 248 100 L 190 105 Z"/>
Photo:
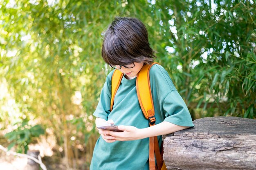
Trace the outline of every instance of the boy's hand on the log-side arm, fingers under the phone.
<path fill-rule="evenodd" d="M 117 141 L 132 141 L 143 139 L 143 129 L 138 129 L 135 126 L 118 126 L 119 130 L 124 130 L 124 132 L 113 132 L 109 131 L 109 135 L 114 137 L 113 139 Z"/>

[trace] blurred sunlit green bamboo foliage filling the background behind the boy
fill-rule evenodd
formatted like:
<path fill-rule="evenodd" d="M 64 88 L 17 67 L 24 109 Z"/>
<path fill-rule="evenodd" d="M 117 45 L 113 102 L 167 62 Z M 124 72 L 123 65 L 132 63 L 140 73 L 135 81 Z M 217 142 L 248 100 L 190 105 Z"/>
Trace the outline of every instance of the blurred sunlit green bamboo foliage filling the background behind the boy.
<path fill-rule="evenodd" d="M 81 145 L 90 163 L 92 113 L 111 71 L 101 43 L 115 16 L 145 23 L 193 119 L 256 118 L 255 0 L 0 0 L 1 127 L 37 119 L 70 166 Z"/>

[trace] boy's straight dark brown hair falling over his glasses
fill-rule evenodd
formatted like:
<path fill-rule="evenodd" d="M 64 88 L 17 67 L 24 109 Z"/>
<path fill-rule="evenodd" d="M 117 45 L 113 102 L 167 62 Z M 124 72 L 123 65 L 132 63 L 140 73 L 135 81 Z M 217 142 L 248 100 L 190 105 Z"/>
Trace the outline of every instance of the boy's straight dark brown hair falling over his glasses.
<path fill-rule="evenodd" d="M 137 18 L 116 17 L 108 26 L 102 43 L 101 56 L 108 64 L 132 62 L 151 64 L 155 51 L 150 48 L 146 26 Z"/>

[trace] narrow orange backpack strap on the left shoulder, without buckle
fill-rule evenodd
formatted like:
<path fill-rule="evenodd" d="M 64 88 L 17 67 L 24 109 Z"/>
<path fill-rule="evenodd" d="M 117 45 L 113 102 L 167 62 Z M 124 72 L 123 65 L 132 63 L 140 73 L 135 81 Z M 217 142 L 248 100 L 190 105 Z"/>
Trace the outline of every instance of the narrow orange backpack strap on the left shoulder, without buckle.
<path fill-rule="evenodd" d="M 124 73 L 122 73 L 119 70 L 115 70 L 112 79 L 111 79 L 111 102 L 110 102 L 110 111 L 113 109 L 114 105 L 114 98 L 117 93 L 117 90 L 121 84 L 122 77 L 124 76 Z"/>

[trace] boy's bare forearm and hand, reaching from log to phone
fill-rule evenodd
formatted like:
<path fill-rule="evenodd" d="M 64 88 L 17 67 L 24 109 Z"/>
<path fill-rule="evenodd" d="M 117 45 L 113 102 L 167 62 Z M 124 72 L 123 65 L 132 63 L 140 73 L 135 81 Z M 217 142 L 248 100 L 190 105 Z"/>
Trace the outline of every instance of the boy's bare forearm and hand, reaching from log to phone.
<path fill-rule="evenodd" d="M 148 128 L 138 129 L 134 126 L 118 126 L 120 130 L 124 130 L 124 132 L 112 132 L 109 130 L 104 130 L 103 133 L 105 135 L 111 135 L 112 139 L 117 141 L 131 141 L 131 140 L 138 140 L 144 139 L 147 137 L 165 135 L 173 132 L 177 132 L 179 130 L 183 130 L 189 128 L 187 126 L 179 126 L 172 124 L 168 121 L 163 121 L 160 124 L 155 126 L 150 126 Z"/>

